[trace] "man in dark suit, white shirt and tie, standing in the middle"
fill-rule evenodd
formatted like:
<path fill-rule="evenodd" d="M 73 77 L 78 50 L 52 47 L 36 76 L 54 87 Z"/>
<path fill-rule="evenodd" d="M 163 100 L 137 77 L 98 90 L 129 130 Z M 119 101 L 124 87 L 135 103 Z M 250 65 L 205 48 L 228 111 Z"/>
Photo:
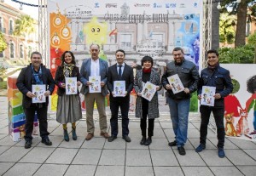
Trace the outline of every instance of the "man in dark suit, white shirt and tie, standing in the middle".
<path fill-rule="evenodd" d="M 126 142 L 131 142 L 129 134 L 129 106 L 130 106 L 130 93 L 133 88 L 133 71 L 131 66 L 126 65 L 125 51 L 119 49 L 115 52 L 117 64 L 112 65 L 108 68 L 108 90 L 110 91 L 110 110 L 111 110 L 111 137 L 108 138 L 108 142 L 112 142 L 117 138 L 118 134 L 118 113 L 119 107 L 122 115 L 122 135 Z M 116 97 L 115 88 L 113 88 L 114 81 L 125 81 L 125 96 Z"/>

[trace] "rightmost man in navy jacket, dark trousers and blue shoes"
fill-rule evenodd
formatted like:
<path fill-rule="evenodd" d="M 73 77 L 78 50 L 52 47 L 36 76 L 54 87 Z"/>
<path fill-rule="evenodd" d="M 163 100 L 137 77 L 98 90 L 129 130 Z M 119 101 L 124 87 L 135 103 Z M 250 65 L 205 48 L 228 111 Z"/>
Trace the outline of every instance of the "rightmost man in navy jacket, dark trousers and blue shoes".
<path fill-rule="evenodd" d="M 201 127 L 200 145 L 195 149 L 196 152 L 206 149 L 207 126 L 211 112 L 213 113 L 218 137 L 218 156 L 223 158 L 224 153 L 224 97 L 232 93 L 233 84 L 230 78 L 230 71 L 222 68 L 218 64 L 218 52 L 216 50 L 207 51 L 207 68 L 201 71 L 201 78 L 198 84 L 198 99 L 201 99 L 202 86 L 216 88 L 214 95 L 214 106 L 201 105 Z"/>

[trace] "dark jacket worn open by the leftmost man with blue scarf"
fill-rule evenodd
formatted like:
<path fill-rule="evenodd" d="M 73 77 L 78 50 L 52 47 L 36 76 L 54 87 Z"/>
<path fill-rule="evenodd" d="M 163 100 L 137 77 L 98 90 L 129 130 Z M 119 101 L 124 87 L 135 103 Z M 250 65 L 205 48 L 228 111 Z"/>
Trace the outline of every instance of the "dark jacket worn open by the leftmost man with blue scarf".
<path fill-rule="evenodd" d="M 49 90 L 50 94 L 53 93 L 55 89 L 55 81 L 50 74 L 49 69 L 45 68 L 44 65 L 41 65 L 42 69 L 42 79 L 43 83 L 46 85 L 46 90 Z M 31 64 L 27 65 L 27 67 L 21 69 L 20 75 L 17 79 L 17 88 L 23 94 L 22 105 L 25 108 L 29 108 L 32 104 L 32 99 L 26 96 L 28 91 L 32 92 L 32 67 Z M 49 98 L 46 97 L 45 105 L 48 105 Z"/>

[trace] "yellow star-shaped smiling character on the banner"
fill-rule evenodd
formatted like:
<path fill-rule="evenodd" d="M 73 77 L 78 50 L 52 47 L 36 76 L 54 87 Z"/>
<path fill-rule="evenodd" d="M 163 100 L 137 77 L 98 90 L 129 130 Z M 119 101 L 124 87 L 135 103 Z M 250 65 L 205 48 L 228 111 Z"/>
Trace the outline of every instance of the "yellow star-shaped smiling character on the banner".
<path fill-rule="evenodd" d="M 104 44 L 107 43 L 108 24 L 100 23 L 97 17 L 93 17 L 89 23 L 84 26 L 84 34 L 86 35 L 86 43 Z"/>

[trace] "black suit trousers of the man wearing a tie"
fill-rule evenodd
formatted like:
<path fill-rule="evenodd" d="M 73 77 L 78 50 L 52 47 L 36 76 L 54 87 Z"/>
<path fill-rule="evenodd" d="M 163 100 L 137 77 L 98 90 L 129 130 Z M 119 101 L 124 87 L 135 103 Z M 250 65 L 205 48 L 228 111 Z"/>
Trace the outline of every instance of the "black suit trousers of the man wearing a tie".
<path fill-rule="evenodd" d="M 127 136 L 129 134 L 129 108 L 130 108 L 130 96 L 126 97 L 116 97 L 110 99 L 110 126 L 111 126 L 111 135 L 117 136 L 119 133 L 119 124 L 118 124 L 118 115 L 119 107 L 122 115 L 122 135 Z"/>

